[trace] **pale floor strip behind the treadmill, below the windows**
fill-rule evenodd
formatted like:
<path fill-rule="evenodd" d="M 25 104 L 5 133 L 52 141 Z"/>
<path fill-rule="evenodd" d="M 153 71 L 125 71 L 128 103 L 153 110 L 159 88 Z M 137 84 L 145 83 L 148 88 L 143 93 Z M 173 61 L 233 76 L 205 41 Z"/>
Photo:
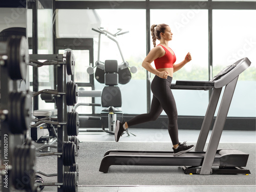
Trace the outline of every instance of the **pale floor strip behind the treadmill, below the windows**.
<path fill-rule="evenodd" d="M 129 128 L 130 134 L 124 134 L 119 142 L 170 142 L 170 137 L 167 130 L 155 129 L 132 129 Z M 197 142 L 200 131 L 198 130 L 179 130 L 180 142 Z M 209 135 L 211 134 L 211 131 Z M 102 132 L 81 132 L 78 135 L 80 141 L 115 141 L 114 136 Z M 207 142 L 209 137 L 207 138 Z M 243 142 L 255 143 L 255 131 L 223 131 L 220 142 Z"/>

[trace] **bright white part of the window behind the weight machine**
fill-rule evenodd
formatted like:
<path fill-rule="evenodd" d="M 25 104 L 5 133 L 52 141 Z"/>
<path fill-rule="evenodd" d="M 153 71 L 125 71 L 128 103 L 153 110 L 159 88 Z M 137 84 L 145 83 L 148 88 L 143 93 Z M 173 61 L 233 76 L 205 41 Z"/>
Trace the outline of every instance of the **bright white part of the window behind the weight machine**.
<path fill-rule="evenodd" d="M 132 73 L 132 79 L 129 83 L 118 85 L 122 93 L 122 111 L 126 114 L 145 113 L 146 71 L 141 67 L 146 52 L 145 10 L 132 10 L 133 14 L 131 14 L 131 10 L 96 10 L 96 12 L 101 19 L 100 27 L 104 27 L 112 33 L 117 32 L 118 28 L 123 29 L 124 32 L 129 31 L 129 33 L 120 35 L 116 39 L 119 42 L 124 60 L 129 62 L 129 66 L 137 67 L 138 71 L 135 74 Z M 98 38 L 95 38 L 94 58 L 97 58 L 97 41 Z M 115 59 L 118 60 L 119 64 L 122 63 L 115 42 L 103 35 L 101 37 L 100 60 L 104 62 L 107 59 Z M 103 87 L 104 84 L 99 84 L 95 80 L 96 90 L 102 90 Z M 95 100 L 98 101 L 96 103 L 100 103 L 100 98 L 95 98 Z M 97 112 L 100 113 L 99 108 L 95 108 L 95 113 Z"/>

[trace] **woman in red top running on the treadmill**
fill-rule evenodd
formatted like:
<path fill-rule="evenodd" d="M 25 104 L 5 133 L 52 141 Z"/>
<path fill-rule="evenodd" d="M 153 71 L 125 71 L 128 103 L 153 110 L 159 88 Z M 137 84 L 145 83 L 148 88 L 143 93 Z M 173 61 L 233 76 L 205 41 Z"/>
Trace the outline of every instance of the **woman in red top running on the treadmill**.
<path fill-rule="evenodd" d="M 178 114 L 175 99 L 172 90 L 170 90 L 170 85 L 172 83 L 173 73 L 180 70 L 187 62 L 189 62 L 191 60 L 191 55 L 188 52 L 185 59 L 175 65 L 176 56 L 174 51 L 168 47 L 168 42 L 173 39 L 173 33 L 171 32 L 170 27 L 166 24 L 152 25 L 151 34 L 154 48 L 142 62 L 143 68 L 156 75 L 151 83 L 153 99 L 150 113 L 138 115 L 127 122 L 120 122 L 117 120 L 115 140 L 118 142 L 125 129 L 130 126 L 148 121 L 155 121 L 164 110 L 168 116 L 168 132 L 173 143 L 174 156 L 178 156 L 192 150 L 194 145 L 186 145 L 186 142 L 183 142 L 182 144 L 179 142 L 177 123 Z M 156 39 L 160 40 L 160 44 L 157 46 Z M 156 69 L 151 66 L 153 61 L 155 62 Z"/>

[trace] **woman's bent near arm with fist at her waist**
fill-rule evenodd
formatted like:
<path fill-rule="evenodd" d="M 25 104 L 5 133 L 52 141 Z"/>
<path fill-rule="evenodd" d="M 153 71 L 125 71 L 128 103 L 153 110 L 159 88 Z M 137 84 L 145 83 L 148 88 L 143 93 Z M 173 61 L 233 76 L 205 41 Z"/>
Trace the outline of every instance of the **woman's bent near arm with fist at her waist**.
<path fill-rule="evenodd" d="M 167 71 L 157 71 L 155 68 L 151 66 L 151 63 L 160 57 L 163 54 L 163 50 L 160 46 L 155 47 L 152 49 L 146 56 L 146 58 L 142 62 L 142 67 L 145 68 L 147 71 L 157 75 L 160 78 L 167 78 L 168 72 Z M 164 53 L 165 54 L 165 53 Z"/>

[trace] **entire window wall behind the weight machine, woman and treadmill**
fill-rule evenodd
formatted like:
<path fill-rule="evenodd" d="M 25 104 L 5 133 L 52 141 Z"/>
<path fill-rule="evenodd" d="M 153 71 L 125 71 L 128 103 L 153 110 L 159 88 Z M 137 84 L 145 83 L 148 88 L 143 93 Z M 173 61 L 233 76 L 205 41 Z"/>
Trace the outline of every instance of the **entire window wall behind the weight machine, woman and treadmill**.
<path fill-rule="evenodd" d="M 151 5 L 150 1 L 148 5 Z M 156 3 L 157 1 L 154 1 Z M 178 2 L 178 1 L 177 1 Z M 159 8 L 151 7 L 150 15 L 146 15 L 146 5 L 135 3 L 138 7 L 132 9 L 129 2 L 110 1 L 116 3 L 113 9 L 109 4 L 99 5 L 89 2 L 87 8 L 76 6 L 69 9 L 67 4 L 57 9 L 56 14 L 56 35 L 57 37 L 86 37 L 94 38 L 94 63 L 98 57 L 98 33 L 92 31 L 92 28 L 103 27 L 104 29 L 115 33 L 118 28 L 123 31 L 130 31 L 127 34 L 117 37 L 124 59 L 130 63 L 130 66 L 136 66 L 138 72 L 132 74 L 132 80 L 125 84 L 119 84 L 122 92 L 122 110 L 126 114 L 145 113 L 146 106 L 146 70 L 141 67 L 141 63 L 146 56 L 146 16 L 150 16 L 150 25 L 166 23 L 172 29 L 173 40 L 169 42 L 177 56 L 177 61 L 181 62 L 186 53 L 190 52 L 193 60 L 174 74 L 173 82 L 176 80 L 208 80 L 209 68 L 213 66 L 213 75 L 216 75 L 227 65 L 238 60 L 240 57 L 248 57 L 252 66 L 239 77 L 236 93 L 230 106 L 228 116 L 255 117 L 255 10 L 216 10 L 215 7 L 232 5 L 231 9 L 241 5 L 246 7 L 246 3 L 218 3 L 212 2 L 191 2 L 177 3 L 170 1 L 159 2 Z M 182 2 L 182 1 L 181 1 Z M 200 3 L 199 3 L 200 2 Z M 199 3 L 199 4 L 198 4 Z M 120 6 L 117 6 L 120 5 Z M 198 4 L 198 5 L 197 5 Z M 248 3 L 248 5 L 251 5 Z M 121 6 L 122 5 L 122 6 Z M 129 9 L 123 9 L 125 6 Z M 175 5 L 177 9 L 165 9 L 161 6 Z M 195 6 L 197 5 L 197 6 Z M 210 6 L 212 5 L 212 6 Z M 247 6 L 248 6 L 247 5 Z M 92 6 L 93 8 L 90 8 Z M 145 7 L 144 7 L 145 6 Z M 109 9 L 103 9 L 104 7 Z M 64 9 L 66 8 L 66 9 Z M 208 9 L 212 10 L 212 23 L 209 19 Z M 241 7 L 237 7 L 241 9 Z M 228 9 L 228 7 L 227 7 Z M 79 19 L 78 19 L 79 18 Z M 211 17 L 210 17 L 211 18 Z M 208 23 L 210 21 L 210 23 Z M 212 25 L 212 31 L 208 31 Z M 150 26 L 148 26 L 150 27 Z M 212 36 L 211 36 L 212 35 Z M 209 44 L 209 37 L 212 37 L 212 50 Z M 151 37 L 149 37 L 151 38 Z M 158 44 L 159 42 L 157 42 Z M 151 42 L 151 49 L 153 44 Z M 101 36 L 100 60 L 116 59 L 122 62 L 118 48 L 111 39 Z M 209 55 L 213 62 L 209 63 Z M 154 63 L 152 63 L 154 66 Z M 151 80 L 154 75 L 151 75 Z M 95 79 L 95 90 L 102 90 L 104 84 L 100 84 Z M 177 103 L 179 115 L 204 116 L 208 100 L 208 91 L 173 91 Z M 243 102 L 241 102 L 243 100 Z M 100 98 L 95 99 L 100 103 Z M 96 108 L 95 113 L 100 113 L 101 108 Z M 165 113 L 163 113 L 165 114 Z"/>

